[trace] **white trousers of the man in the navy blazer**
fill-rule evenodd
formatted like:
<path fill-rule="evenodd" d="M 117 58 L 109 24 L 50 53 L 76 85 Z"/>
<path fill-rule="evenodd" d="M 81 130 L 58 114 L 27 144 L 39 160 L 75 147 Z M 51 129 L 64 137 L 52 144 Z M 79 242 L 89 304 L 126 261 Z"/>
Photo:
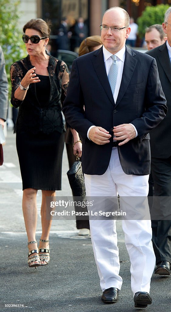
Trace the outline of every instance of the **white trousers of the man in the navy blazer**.
<path fill-rule="evenodd" d="M 135 209 L 131 197 L 141 198 L 148 195 L 149 175 L 127 175 L 123 172 L 118 149 L 113 148 L 109 167 L 103 175 L 85 174 L 86 196 L 110 197 L 123 196 L 120 209 Z M 101 207 L 100 207 L 101 205 Z M 131 205 L 133 207 L 131 207 Z M 127 206 L 127 207 L 126 207 Z M 103 200 L 98 200 L 98 210 L 104 211 Z M 149 208 L 148 208 L 149 210 Z M 149 220 L 122 220 L 122 229 L 125 234 L 125 244 L 131 262 L 131 288 L 133 295 L 137 291 L 150 291 L 150 280 L 155 267 L 155 254 L 151 242 L 152 230 Z M 122 278 L 119 275 L 119 251 L 117 246 L 116 220 L 91 220 L 90 232 L 95 261 L 100 278 L 102 291 L 110 287 L 121 289 Z"/>

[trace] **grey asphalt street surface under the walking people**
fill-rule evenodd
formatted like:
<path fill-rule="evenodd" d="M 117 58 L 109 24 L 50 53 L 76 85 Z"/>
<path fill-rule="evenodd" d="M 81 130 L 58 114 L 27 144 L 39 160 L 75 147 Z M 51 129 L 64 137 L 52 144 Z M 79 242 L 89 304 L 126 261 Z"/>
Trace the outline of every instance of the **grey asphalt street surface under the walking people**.
<path fill-rule="evenodd" d="M 27 236 L 22 215 L 22 183 L 15 147 L 15 134 L 7 131 L 4 165 L 0 167 L 0 308 L 1 311 L 39 312 L 170 312 L 171 276 L 152 276 L 150 295 L 153 303 L 136 309 L 130 286 L 130 262 L 124 243 L 121 221 L 117 222 L 118 247 L 123 278 L 119 301 L 102 303 L 99 276 L 91 240 L 78 236 L 75 220 L 53 220 L 50 234 L 50 262 L 37 269 L 27 265 Z M 63 154 L 62 191 L 57 196 L 71 196 L 67 180 L 66 150 Z M 41 193 L 38 192 L 37 240 L 41 232 Z M 15 307 L 12 305 L 16 305 Z"/>

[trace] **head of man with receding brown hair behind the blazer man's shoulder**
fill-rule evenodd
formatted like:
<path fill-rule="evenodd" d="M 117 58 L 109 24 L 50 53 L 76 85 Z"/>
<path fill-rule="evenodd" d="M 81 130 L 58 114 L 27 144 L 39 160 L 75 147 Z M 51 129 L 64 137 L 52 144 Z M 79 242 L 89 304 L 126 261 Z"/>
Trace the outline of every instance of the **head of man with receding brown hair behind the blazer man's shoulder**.
<path fill-rule="evenodd" d="M 162 25 L 154 24 L 146 28 L 145 42 L 148 51 L 161 46 L 166 40 L 167 36 L 163 31 Z"/>

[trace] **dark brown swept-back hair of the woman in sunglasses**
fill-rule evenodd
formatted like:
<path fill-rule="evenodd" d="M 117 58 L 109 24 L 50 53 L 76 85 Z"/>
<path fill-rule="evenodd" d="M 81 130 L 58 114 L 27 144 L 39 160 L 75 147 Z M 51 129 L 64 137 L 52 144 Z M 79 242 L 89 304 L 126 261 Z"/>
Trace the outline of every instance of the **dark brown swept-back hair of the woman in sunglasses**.
<path fill-rule="evenodd" d="M 42 37 L 50 37 L 50 26 L 51 23 L 45 22 L 42 18 L 32 18 L 29 22 L 27 22 L 23 27 L 23 32 L 25 33 L 25 30 L 27 28 L 35 29 L 38 32 L 41 33 Z"/>

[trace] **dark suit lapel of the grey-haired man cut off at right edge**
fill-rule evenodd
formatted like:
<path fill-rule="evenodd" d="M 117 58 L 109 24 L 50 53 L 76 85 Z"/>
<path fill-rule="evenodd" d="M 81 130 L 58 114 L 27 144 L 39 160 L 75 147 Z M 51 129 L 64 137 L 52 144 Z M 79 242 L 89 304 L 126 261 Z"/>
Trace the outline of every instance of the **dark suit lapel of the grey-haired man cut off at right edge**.
<path fill-rule="evenodd" d="M 163 67 L 163 70 L 166 76 L 171 82 L 171 63 L 170 63 L 169 53 L 168 53 L 166 43 L 162 44 L 162 46 L 159 47 L 158 59 L 159 59 L 161 66 Z"/>

